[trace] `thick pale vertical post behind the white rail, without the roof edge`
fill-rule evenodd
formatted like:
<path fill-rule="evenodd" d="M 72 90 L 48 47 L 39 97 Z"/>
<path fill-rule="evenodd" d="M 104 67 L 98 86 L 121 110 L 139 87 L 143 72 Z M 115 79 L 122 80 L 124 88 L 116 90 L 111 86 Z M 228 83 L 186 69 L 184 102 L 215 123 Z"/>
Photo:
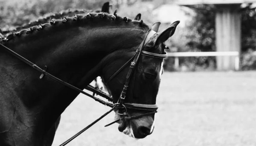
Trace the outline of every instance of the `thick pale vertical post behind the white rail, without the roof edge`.
<path fill-rule="evenodd" d="M 241 4 L 215 5 L 216 51 L 241 51 Z M 217 70 L 234 70 L 235 58 L 218 56 Z M 237 61 L 237 60 L 236 60 Z"/>

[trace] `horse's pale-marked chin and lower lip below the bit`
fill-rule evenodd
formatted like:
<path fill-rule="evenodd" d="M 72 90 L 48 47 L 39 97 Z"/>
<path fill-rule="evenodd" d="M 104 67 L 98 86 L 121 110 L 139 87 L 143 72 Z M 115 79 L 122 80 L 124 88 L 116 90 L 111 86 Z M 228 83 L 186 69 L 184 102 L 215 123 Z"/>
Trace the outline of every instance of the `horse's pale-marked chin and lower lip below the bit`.
<path fill-rule="evenodd" d="M 119 118 L 121 118 L 121 116 L 116 114 L 115 120 L 117 120 Z M 125 135 L 128 135 L 131 138 L 135 138 L 130 121 L 119 121 L 117 123 L 119 124 L 118 130 L 120 132 L 123 132 Z"/>

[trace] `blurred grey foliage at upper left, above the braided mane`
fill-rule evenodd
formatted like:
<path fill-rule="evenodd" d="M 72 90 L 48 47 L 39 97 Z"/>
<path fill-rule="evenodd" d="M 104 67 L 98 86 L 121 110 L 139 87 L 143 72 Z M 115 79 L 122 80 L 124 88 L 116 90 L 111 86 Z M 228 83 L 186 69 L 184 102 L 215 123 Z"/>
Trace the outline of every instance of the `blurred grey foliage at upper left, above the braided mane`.
<path fill-rule="evenodd" d="M 111 1 L 111 0 L 109 0 Z M 9 0 L 0 2 L 0 27 L 20 26 L 68 8 L 101 9 L 106 0 Z"/>

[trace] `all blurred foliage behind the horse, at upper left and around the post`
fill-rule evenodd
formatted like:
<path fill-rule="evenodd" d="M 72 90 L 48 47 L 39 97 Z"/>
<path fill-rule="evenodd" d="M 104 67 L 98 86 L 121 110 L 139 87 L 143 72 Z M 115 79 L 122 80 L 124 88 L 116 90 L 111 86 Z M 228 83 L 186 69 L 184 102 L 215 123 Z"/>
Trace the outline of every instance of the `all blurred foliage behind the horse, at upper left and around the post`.
<path fill-rule="evenodd" d="M 118 14 L 134 18 L 142 14 L 144 22 L 151 25 L 155 22 L 152 14 L 154 8 L 171 3 L 170 0 L 108 0 L 113 9 L 118 8 Z M 3 30 L 12 29 L 30 21 L 37 20 L 49 12 L 58 12 L 68 8 L 83 8 L 87 10 L 100 10 L 106 0 L 9 0 L 0 1 L 0 27 Z M 149 5 L 150 4 L 150 5 Z M 154 7 L 152 7 L 154 6 Z M 200 5 L 191 7 L 194 13 L 186 13 L 192 17 L 185 28 L 177 29 L 175 35 L 166 44 L 170 52 L 186 51 L 216 51 L 215 47 L 215 7 Z M 256 11 L 251 4 L 243 5 L 242 14 L 242 48 L 241 69 L 255 70 L 256 59 L 252 55 L 256 51 Z M 170 14 L 172 17 L 172 14 Z M 170 23 L 162 23 L 161 28 L 166 28 Z M 161 31 L 161 29 L 160 29 Z M 166 70 L 175 70 L 174 59 L 165 60 Z M 215 57 L 181 57 L 179 70 L 215 70 Z"/>

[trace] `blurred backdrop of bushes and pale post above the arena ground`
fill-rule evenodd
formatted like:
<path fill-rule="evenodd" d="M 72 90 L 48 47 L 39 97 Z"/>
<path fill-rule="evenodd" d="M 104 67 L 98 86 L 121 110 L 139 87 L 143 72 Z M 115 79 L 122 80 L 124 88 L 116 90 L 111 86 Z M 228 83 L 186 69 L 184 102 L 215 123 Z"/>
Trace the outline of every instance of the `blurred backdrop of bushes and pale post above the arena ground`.
<path fill-rule="evenodd" d="M 12 29 L 50 12 L 68 8 L 101 10 L 106 0 L 0 0 L 0 27 Z M 180 20 L 169 52 L 236 51 L 236 54 L 169 54 L 165 70 L 256 69 L 256 4 L 254 0 L 109 0 L 113 11 L 134 18 L 142 14 L 148 25 L 160 21 L 160 31 Z M 216 29 L 217 28 L 217 29 Z M 223 31 L 226 30 L 226 31 Z M 217 37 L 218 36 L 218 37 Z M 230 45 L 228 45 L 230 44 Z M 234 53 L 234 52 L 233 52 Z M 186 56 L 184 56 L 186 55 Z M 171 57 L 172 56 L 172 57 Z M 175 59 L 176 58 L 176 59 Z"/>

